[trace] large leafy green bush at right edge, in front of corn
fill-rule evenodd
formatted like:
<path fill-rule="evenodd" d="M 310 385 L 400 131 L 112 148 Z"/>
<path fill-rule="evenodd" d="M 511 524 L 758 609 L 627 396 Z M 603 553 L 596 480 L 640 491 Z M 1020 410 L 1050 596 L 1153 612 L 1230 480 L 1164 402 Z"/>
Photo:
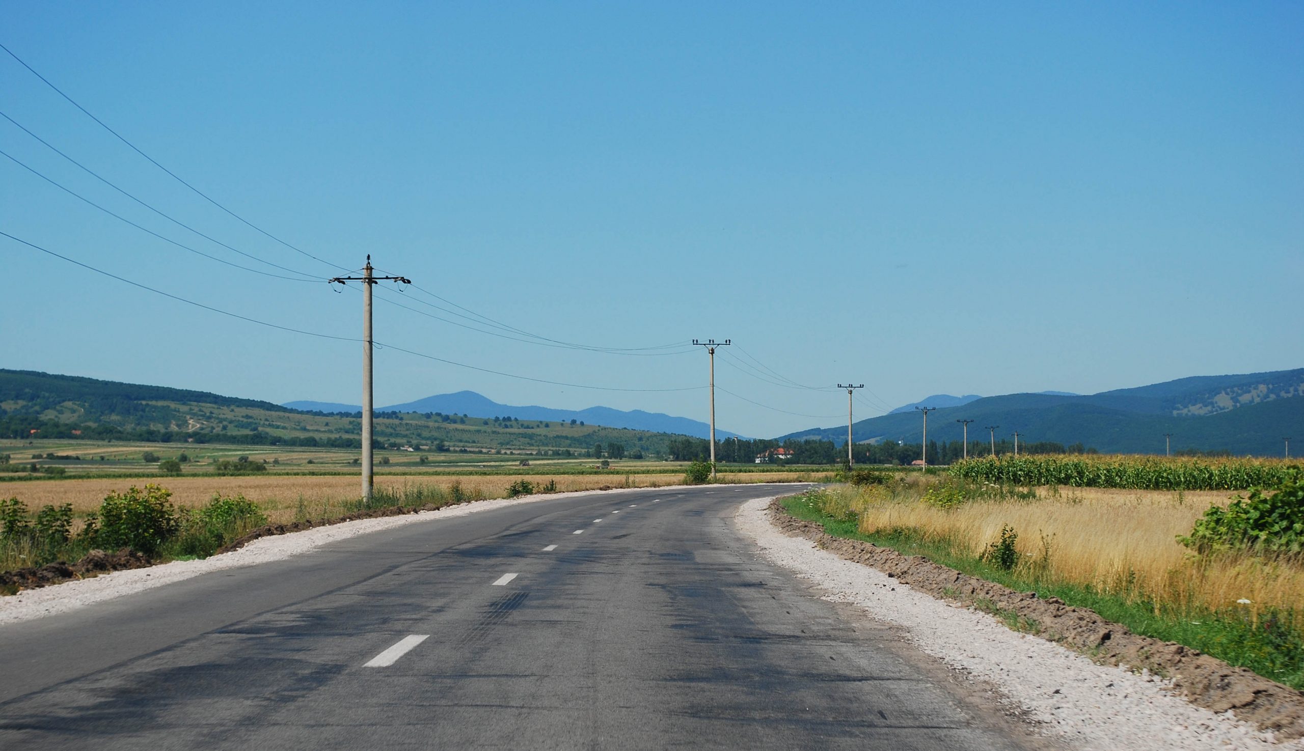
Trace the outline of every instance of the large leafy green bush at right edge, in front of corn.
<path fill-rule="evenodd" d="M 1251 490 L 1227 505 L 1211 506 L 1178 541 L 1198 553 L 1253 550 L 1299 555 L 1304 553 L 1304 482 L 1292 473 L 1271 494 Z"/>

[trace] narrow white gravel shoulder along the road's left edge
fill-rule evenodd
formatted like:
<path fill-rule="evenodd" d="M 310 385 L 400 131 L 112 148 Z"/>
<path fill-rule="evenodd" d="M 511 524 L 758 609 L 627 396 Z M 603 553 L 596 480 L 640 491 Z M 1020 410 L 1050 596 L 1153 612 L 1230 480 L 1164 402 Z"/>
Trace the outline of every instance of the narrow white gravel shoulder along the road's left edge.
<path fill-rule="evenodd" d="M 674 486 L 666 489 L 673 488 Z M 630 490 L 647 490 L 647 488 L 630 488 Z M 621 490 L 601 490 L 601 493 L 619 492 Z M 304 529 L 303 532 L 261 537 L 239 550 L 232 550 L 231 553 L 223 553 L 222 555 L 214 555 L 200 561 L 173 561 L 171 563 L 150 566 L 147 568 L 113 571 L 112 574 L 104 574 L 91 579 L 64 582 L 63 584 L 39 587 L 37 589 L 23 589 L 22 592 L 9 597 L 0 597 L 0 626 L 18 623 L 21 621 L 31 621 L 33 618 L 43 618 L 46 615 L 55 615 L 57 613 L 67 613 L 77 608 L 85 608 L 86 605 L 95 602 L 103 602 L 106 600 L 143 592 L 155 587 L 163 587 L 164 584 L 180 582 L 183 579 L 198 576 L 200 574 L 207 574 L 210 571 L 257 566 L 258 563 L 267 563 L 269 561 L 282 561 L 284 558 L 289 558 L 291 555 L 310 553 L 329 542 L 335 542 L 347 537 L 356 537 L 357 535 L 366 535 L 368 532 L 381 532 L 383 529 L 403 527 L 406 524 L 420 524 L 439 519 L 451 519 L 454 516 L 466 516 L 467 514 L 492 511 L 494 508 L 516 506 L 519 503 L 571 498 L 589 493 L 595 493 L 595 490 L 553 493 L 549 495 L 522 495 L 520 498 L 510 499 L 499 498 L 492 501 L 475 501 L 471 503 L 446 506 L 437 511 L 421 511 L 417 514 L 406 514 L 403 516 L 383 516 L 379 519 L 342 522 L 339 524 Z"/>

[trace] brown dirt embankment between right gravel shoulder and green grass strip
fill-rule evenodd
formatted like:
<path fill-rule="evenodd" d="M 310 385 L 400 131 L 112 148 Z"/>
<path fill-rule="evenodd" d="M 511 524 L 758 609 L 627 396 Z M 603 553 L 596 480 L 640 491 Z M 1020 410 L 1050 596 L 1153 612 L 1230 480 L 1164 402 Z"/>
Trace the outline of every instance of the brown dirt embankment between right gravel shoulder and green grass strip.
<path fill-rule="evenodd" d="M 840 558 L 872 566 L 935 597 L 966 605 L 979 600 L 991 602 L 1035 622 L 1041 638 L 1071 647 L 1097 662 L 1144 668 L 1171 678 L 1174 686 L 1198 707 L 1231 711 L 1239 720 L 1271 730 L 1278 738 L 1304 738 L 1304 692 L 1197 649 L 1140 636 L 1093 610 L 1064 605 L 1058 597 L 1041 600 L 1035 592 L 1017 592 L 969 576 L 923 555 L 902 555 L 859 540 L 833 537 L 822 525 L 789 515 L 777 499 L 769 505 L 769 514 L 781 531 L 806 537 Z"/>

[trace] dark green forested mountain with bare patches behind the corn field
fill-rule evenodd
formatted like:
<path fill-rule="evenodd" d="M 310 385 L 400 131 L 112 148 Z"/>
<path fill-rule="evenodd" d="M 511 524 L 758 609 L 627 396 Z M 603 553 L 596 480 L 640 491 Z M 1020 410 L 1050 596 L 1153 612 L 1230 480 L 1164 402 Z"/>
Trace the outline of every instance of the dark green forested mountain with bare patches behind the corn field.
<path fill-rule="evenodd" d="M 940 405 L 940 400 L 962 400 Z M 969 425 L 970 441 L 986 441 L 986 425 L 999 425 L 998 438 L 1018 430 L 1020 441 L 1084 443 L 1101 451 L 1154 454 L 1163 434 L 1172 450 L 1227 450 L 1234 454 L 1281 456 L 1284 435 L 1304 435 L 1304 368 L 1240 376 L 1197 376 L 1136 389 L 1091 395 L 1064 392 L 1004 396 L 930 396 L 853 425 L 862 441 L 919 442 L 923 421 L 915 405 L 939 407 L 928 416 L 930 441 L 958 441 L 957 420 Z M 846 441 L 846 426 L 812 428 L 782 438 Z"/>

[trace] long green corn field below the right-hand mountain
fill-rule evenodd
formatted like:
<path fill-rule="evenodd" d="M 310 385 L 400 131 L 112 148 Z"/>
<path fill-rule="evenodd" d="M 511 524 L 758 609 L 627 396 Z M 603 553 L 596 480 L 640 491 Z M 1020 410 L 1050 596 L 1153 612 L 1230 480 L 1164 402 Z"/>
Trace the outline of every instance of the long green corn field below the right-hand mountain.
<path fill-rule="evenodd" d="M 1125 455 L 985 456 L 951 465 L 951 475 L 1000 485 L 1067 485 L 1132 490 L 1244 490 L 1278 485 L 1297 463 L 1279 459 L 1170 459 Z"/>

